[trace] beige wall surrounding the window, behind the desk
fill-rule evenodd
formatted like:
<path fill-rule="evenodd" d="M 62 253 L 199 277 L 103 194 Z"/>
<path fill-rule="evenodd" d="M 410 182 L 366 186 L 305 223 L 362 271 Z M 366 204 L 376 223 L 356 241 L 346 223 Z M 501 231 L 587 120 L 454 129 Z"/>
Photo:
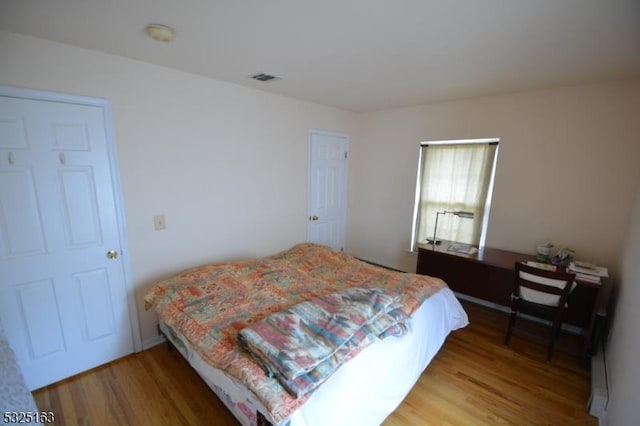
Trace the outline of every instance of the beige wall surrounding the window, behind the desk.
<path fill-rule="evenodd" d="M 418 144 L 499 137 L 491 247 L 545 241 L 615 272 L 640 181 L 640 81 L 361 114 L 352 138 L 349 251 L 405 270 Z"/>

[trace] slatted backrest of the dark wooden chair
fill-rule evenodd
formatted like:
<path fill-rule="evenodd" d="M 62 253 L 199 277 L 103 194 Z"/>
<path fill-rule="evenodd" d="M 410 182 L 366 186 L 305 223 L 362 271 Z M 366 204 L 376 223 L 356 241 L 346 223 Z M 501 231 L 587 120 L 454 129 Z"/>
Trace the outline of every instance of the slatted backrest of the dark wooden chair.
<path fill-rule="evenodd" d="M 521 299 L 547 306 L 564 306 L 576 286 L 576 275 L 550 271 L 521 262 L 515 266 L 514 294 Z"/>

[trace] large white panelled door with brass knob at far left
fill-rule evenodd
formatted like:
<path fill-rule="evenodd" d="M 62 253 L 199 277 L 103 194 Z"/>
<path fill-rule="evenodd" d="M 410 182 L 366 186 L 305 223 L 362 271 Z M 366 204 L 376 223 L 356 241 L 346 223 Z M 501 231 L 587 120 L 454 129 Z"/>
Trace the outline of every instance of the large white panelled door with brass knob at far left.
<path fill-rule="evenodd" d="M 0 96 L 0 319 L 30 389 L 133 352 L 107 125 Z"/>

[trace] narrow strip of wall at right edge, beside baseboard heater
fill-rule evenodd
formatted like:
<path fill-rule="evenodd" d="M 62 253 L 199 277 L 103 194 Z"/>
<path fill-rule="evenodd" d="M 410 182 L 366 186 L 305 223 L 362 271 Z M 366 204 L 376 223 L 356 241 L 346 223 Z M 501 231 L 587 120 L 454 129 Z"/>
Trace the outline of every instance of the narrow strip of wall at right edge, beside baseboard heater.
<path fill-rule="evenodd" d="M 611 338 L 607 344 L 606 363 L 609 382 L 607 424 L 638 424 L 640 395 L 640 185 L 628 232 L 626 249 L 621 257 L 620 288 L 612 318 Z"/>

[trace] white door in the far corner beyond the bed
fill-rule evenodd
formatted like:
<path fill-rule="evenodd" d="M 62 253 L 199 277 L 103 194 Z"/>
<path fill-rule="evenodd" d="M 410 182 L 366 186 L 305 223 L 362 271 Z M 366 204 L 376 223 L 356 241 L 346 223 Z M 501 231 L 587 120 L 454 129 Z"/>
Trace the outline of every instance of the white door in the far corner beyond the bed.
<path fill-rule="evenodd" d="M 349 137 L 309 132 L 307 240 L 343 250 L 347 223 Z"/>

